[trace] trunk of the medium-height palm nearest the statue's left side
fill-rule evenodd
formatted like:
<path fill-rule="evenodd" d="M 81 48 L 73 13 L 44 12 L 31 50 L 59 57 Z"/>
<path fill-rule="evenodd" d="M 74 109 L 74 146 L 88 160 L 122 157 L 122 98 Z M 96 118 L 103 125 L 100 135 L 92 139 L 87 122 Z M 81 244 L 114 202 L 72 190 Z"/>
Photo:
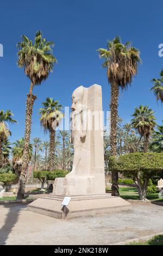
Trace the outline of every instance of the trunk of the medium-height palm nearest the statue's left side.
<path fill-rule="evenodd" d="M 50 129 L 49 170 L 55 169 L 55 130 Z"/>

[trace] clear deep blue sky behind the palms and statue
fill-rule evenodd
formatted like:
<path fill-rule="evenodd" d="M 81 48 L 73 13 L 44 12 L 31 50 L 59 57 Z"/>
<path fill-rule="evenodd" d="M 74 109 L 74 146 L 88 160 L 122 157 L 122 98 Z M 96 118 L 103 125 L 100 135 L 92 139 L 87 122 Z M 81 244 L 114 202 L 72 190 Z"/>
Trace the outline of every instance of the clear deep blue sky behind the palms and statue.
<path fill-rule="evenodd" d="M 10 125 L 11 141 L 24 135 L 26 94 L 30 81 L 17 67 L 16 44 L 22 34 L 34 39 L 41 30 L 47 40 L 55 43 L 58 59 L 53 73 L 41 86 L 34 88 L 32 138 L 47 139 L 40 127 L 38 109 L 47 96 L 71 105 L 73 90 L 94 83 L 103 89 L 103 109 L 108 111 L 110 87 L 106 71 L 101 67 L 97 48 L 120 35 L 123 42 L 131 41 L 140 49 L 142 64 L 132 86 L 120 95 L 119 114 L 128 122 L 135 106 L 148 105 L 156 113 L 158 123 L 163 119 L 163 106 L 156 103 L 150 80 L 159 76 L 163 57 L 158 56 L 158 45 L 163 43 L 163 2 L 110 0 L 3 0 L 0 15 L 0 109 L 11 109 L 18 124 Z"/>

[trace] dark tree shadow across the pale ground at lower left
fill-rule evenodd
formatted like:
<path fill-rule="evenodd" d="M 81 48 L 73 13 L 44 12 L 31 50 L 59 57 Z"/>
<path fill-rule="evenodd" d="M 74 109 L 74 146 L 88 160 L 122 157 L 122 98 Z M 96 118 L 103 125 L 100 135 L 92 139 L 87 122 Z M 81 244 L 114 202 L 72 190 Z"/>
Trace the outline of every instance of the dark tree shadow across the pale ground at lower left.
<path fill-rule="evenodd" d="M 14 228 L 20 211 L 27 207 L 27 204 L 22 203 L 7 203 L 3 204 L 4 208 L 8 208 L 8 213 L 5 216 L 4 224 L 0 229 L 0 245 L 5 245 L 9 234 Z"/>

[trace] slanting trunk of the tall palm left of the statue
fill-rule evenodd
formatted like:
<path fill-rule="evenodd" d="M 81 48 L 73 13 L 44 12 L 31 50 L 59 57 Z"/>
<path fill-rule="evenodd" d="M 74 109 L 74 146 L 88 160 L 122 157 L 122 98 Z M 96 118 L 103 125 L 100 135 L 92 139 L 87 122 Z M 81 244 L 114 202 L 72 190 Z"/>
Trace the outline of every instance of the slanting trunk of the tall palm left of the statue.
<path fill-rule="evenodd" d="M 32 87 L 32 84 L 31 84 Z M 30 92 L 31 92 L 30 87 Z M 27 102 L 26 102 L 26 128 L 24 135 L 24 150 L 22 157 L 22 170 L 19 180 L 17 199 L 24 198 L 25 187 L 26 187 L 26 175 L 27 168 L 29 162 L 29 143 L 30 143 L 30 133 L 31 133 L 31 125 L 32 125 L 32 113 L 33 113 L 33 105 L 36 100 L 36 95 L 27 94 Z"/>

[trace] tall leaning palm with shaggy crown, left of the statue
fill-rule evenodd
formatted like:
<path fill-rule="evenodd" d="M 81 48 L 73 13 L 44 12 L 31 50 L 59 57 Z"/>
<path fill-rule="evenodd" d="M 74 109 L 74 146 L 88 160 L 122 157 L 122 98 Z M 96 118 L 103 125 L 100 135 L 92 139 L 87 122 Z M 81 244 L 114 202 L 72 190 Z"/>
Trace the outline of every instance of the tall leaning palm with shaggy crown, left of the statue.
<path fill-rule="evenodd" d="M 18 42 L 18 61 L 20 68 L 24 69 L 25 74 L 30 79 L 30 90 L 27 94 L 26 102 L 26 128 L 24 135 L 24 151 L 22 158 L 22 172 L 18 187 L 17 198 L 23 198 L 26 186 L 26 172 L 28 168 L 28 148 L 30 144 L 30 133 L 32 125 L 33 105 L 36 95 L 33 95 L 33 87 L 46 80 L 52 71 L 57 59 L 52 52 L 53 42 L 47 41 L 42 37 L 42 32 L 37 31 L 35 41 L 29 40 L 26 35 L 22 35 L 22 41 Z"/>

